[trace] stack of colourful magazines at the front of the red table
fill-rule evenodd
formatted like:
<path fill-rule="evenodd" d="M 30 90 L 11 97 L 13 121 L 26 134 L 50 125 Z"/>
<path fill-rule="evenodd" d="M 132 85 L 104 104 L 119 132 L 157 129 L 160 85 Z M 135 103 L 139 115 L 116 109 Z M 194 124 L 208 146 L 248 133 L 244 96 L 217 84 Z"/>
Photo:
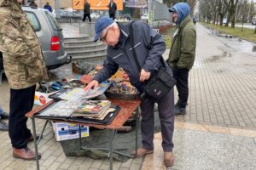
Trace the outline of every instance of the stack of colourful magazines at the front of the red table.
<path fill-rule="evenodd" d="M 102 120 L 109 112 L 114 111 L 113 108 L 110 108 L 110 105 L 109 100 L 85 100 L 73 111 L 72 116 Z"/>

